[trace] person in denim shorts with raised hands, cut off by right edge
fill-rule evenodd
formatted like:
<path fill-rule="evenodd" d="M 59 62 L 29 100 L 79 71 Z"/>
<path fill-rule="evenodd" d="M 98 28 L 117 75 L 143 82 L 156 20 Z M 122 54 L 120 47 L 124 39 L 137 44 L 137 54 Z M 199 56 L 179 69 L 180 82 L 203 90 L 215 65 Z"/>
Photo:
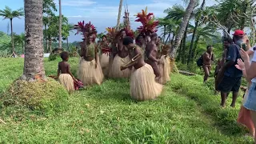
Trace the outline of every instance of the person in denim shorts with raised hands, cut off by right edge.
<path fill-rule="evenodd" d="M 244 107 L 247 110 L 250 110 L 250 117 L 252 118 L 252 121 L 254 122 L 254 127 L 256 126 L 256 49 L 254 48 L 254 56 L 251 60 L 250 64 L 250 57 L 248 53 L 245 50 L 240 50 L 240 54 L 242 57 L 242 60 L 244 61 L 245 68 L 242 70 L 246 71 L 246 79 L 252 79 L 251 85 L 249 89 L 248 96 L 246 98 L 246 102 L 244 104 Z M 256 143 L 256 136 L 254 134 L 254 143 Z"/>

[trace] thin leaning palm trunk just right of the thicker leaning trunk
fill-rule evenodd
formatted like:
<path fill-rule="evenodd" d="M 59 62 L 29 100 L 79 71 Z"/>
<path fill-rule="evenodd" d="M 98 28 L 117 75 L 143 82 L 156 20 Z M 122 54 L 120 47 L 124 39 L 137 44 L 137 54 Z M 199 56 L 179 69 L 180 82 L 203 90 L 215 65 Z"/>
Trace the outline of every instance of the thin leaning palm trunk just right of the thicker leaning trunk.
<path fill-rule="evenodd" d="M 193 50 L 193 45 L 194 45 L 194 38 L 195 38 L 195 34 L 196 34 L 196 31 L 197 31 L 197 28 L 198 28 L 198 25 L 199 25 L 200 18 L 202 16 L 202 10 L 203 10 L 205 4 L 206 4 L 206 0 L 203 0 L 202 4 L 200 6 L 200 10 L 198 10 L 198 14 L 196 14 L 196 21 L 195 21 L 195 24 L 194 24 L 194 31 L 193 31 L 192 39 L 191 39 L 191 43 L 190 43 L 190 51 L 189 51 L 188 58 L 187 58 L 187 63 L 188 64 L 191 62 L 192 50 Z"/>

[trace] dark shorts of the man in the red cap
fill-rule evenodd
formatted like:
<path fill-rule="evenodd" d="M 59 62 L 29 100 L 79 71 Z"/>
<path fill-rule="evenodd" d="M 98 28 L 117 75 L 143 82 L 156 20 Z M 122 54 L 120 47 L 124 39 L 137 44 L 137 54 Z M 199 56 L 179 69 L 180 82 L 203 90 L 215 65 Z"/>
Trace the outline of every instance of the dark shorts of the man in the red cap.
<path fill-rule="evenodd" d="M 218 85 L 218 90 L 223 93 L 229 93 L 230 91 L 238 92 L 240 90 L 242 77 L 230 78 L 224 76 L 222 82 Z"/>

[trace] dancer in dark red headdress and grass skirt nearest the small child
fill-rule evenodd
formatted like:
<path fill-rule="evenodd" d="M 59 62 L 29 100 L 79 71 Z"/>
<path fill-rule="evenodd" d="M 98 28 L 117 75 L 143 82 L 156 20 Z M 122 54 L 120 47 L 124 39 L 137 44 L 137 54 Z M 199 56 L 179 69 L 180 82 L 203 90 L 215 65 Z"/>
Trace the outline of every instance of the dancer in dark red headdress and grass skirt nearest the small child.
<path fill-rule="evenodd" d="M 78 22 L 74 28 L 78 30 L 77 34 L 82 32 L 84 36 L 83 42 L 81 42 L 82 59 L 78 69 L 78 78 L 85 86 L 100 85 L 104 75 L 98 62 L 98 50 L 95 44 L 97 31 L 90 22 L 86 25 L 84 22 Z"/>

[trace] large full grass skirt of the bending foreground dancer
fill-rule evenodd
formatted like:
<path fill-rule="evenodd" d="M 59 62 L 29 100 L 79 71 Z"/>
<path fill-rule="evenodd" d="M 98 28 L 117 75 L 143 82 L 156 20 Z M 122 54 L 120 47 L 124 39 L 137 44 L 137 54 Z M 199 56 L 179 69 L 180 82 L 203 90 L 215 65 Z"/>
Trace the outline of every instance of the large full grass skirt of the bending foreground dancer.
<path fill-rule="evenodd" d="M 130 77 L 131 98 L 146 101 L 157 98 L 162 92 L 162 85 L 154 81 L 153 68 L 146 64 L 135 69 Z"/>

